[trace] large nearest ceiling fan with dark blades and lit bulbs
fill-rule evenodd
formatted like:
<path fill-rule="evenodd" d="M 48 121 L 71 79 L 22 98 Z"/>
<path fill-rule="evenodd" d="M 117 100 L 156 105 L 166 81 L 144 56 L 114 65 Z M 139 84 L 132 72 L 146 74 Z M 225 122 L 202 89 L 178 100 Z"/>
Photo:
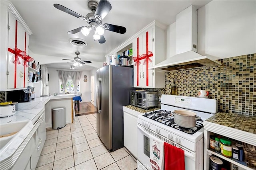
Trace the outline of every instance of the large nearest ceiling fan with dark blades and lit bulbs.
<path fill-rule="evenodd" d="M 111 4 L 107 0 L 100 0 L 99 3 L 94 0 L 90 0 L 88 2 L 88 7 L 92 12 L 88 13 L 86 17 L 81 16 L 80 14 L 60 4 L 54 4 L 53 6 L 58 10 L 66 12 L 76 18 L 79 18 L 80 20 L 84 20 L 89 24 L 89 26 L 82 26 L 82 27 L 73 29 L 71 31 L 68 31 L 68 34 L 75 34 L 81 31 L 83 35 L 87 36 L 89 35 L 90 31 L 94 29 L 94 35 L 93 35 L 94 41 L 98 40 L 99 43 L 102 44 L 106 42 L 106 39 L 103 36 L 104 29 L 108 31 L 120 33 L 120 34 L 126 33 L 125 27 L 113 25 L 110 23 L 104 23 L 102 25 L 102 20 L 106 17 L 108 12 L 110 12 L 112 8 Z"/>

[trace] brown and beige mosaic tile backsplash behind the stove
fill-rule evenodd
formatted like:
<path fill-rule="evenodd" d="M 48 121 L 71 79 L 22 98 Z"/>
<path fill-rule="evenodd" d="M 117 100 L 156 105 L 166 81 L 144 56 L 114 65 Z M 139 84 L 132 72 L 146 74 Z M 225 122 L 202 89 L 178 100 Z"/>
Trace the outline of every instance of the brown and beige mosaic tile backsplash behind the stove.
<path fill-rule="evenodd" d="M 208 90 L 208 98 L 218 101 L 219 112 L 256 116 L 256 54 L 220 59 L 222 66 L 174 70 L 165 74 L 165 88 L 143 88 L 176 95 L 197 97 L 200 88 Z M 158 102 L 160 106 L 160 102 Z"/>

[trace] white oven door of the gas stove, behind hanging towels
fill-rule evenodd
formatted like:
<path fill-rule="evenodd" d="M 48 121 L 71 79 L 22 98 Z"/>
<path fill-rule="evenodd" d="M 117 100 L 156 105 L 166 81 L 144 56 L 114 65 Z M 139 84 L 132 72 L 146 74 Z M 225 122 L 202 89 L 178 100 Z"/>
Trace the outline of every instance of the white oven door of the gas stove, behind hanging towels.
<path fill-rule="evenodd" d="M 185 149 L 182 146 L 172 143 L 172 141 L 170 141 L 169 139 L 166 139 L 165 137 L 160 136 L 154 131 L 151 131 L 150 129 L 147 129 L 139 124 L 137 128 L 138 128 L 138 160 L 143 164 L 145 168 L 151 169 L 149 134 L 152 134 L 158 139 L 184 150 L 186 170 L 200 169 L 200 167 L 202 169 L 202 165 L 196 161 L 196 152 L 192 152 L 191 150 Z M 138 167 L 138 169 L 142 169 L 142 167 Z"/>

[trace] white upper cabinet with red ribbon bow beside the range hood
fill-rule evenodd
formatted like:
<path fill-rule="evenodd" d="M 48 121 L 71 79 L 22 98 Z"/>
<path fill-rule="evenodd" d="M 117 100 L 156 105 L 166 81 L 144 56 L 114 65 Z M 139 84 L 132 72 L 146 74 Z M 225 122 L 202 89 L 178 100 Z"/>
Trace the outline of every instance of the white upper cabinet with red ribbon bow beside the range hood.
<path fill-rule="evenodd" d="M 134 87 L 164 88 L 165 73 L 148 69 L 166 57 L 166 32 L 150 25 L 132 42 L 134 64 Z"/>

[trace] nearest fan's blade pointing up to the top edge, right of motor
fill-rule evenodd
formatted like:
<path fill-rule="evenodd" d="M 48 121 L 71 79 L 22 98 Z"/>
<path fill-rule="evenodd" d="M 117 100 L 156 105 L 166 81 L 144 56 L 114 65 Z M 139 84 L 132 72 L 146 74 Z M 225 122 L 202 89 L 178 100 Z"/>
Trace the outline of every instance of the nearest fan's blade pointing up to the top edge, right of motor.
<path fill-rule="evenodd" d="M 105 16 L 110 12 L 112 6 L 107 0 L 100 0 L 94 16 L 97 20 L 102 21 Z"/>

